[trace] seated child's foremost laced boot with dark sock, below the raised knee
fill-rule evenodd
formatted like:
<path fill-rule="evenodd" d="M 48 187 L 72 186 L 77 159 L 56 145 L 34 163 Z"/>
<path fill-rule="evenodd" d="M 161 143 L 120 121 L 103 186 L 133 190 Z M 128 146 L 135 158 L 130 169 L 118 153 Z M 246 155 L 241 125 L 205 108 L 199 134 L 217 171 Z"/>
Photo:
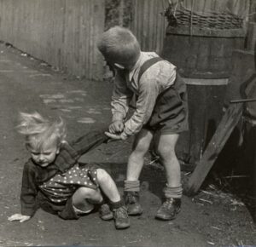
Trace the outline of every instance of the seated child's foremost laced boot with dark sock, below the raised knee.
<path fill-rule="evenodd" d="M 117 203 L 111 202 L 113 209 L 113 220 L 114 225 L 117 229 L 125 229 L 130 227 L 130 221 L 127 214 L 127 208 L 124 205 L 123 201 Z"/>

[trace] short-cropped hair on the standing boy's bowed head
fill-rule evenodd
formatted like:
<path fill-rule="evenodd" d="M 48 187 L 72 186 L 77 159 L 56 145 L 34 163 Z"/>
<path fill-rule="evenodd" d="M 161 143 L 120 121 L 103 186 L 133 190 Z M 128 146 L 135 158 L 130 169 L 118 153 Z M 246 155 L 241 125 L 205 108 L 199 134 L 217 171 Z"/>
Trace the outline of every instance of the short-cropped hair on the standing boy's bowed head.
<path fill-rule="evenodd" d="M 141 51 L 137 38 L 121 26 L 113 26 L 103 32 L 97 47 L 107 60 L 130 65 L 136 63 Z"/>

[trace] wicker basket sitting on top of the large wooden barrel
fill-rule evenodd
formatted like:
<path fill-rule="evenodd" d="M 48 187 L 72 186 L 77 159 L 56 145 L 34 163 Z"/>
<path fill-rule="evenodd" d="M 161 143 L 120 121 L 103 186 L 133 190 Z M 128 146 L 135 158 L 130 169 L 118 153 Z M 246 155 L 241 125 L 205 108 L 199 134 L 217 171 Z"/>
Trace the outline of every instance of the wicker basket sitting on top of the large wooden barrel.
<path fill-rule="evenodd" d="M 174 10 L 170 5 L 165 11 L 165 16 L 169 26 L 195 26 L 224 30 L 242 28 L 243 24 L 242 18 L 236 14 L 228 12 L 205 12 L 202 14 L 182 6 L 180 9 Z"/>

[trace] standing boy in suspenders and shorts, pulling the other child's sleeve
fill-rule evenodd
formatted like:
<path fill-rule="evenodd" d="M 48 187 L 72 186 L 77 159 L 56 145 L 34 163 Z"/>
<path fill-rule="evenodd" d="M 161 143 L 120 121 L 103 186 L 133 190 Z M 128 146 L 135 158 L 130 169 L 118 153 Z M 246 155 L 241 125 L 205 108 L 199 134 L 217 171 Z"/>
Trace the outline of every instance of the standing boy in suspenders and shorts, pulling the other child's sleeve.
<path fill-rule="evenodd" d="M 139 204 L 143 158 L 155 135 L 155 148 L 166 169 L 165 201 L 156 218 L 172 220 L 180 210 L 181 172 L 175 146 L 180 132 L 188 129 L 186 86 L 176 67 L 154 52 L 142 52 L 137 38 L 124 27 L 114 26 L 98 43 L 105 60 L 116 70 L 112 96 L 112 123 L 107 135 L 125 140 L 135 135 L 127 164 L 125 204 L 129 215 L 141 215 Z M 126 119 L 132 96 L 135 111 Z"/>

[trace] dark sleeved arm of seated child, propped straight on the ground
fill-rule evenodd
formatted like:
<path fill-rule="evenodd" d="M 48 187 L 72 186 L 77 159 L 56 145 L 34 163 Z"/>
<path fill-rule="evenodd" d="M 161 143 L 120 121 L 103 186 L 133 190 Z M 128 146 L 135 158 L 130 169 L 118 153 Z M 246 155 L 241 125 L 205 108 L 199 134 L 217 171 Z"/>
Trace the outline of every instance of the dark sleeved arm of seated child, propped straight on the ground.
<path fill-rule="evenodd" d="M 31 216 L 38 210 L 36 197 L 38 188 L 36 185 L 36 171 L 31 162 L 27 162 L 23 169 L 22 186 L 20 193 L 21 215 Z"/>

